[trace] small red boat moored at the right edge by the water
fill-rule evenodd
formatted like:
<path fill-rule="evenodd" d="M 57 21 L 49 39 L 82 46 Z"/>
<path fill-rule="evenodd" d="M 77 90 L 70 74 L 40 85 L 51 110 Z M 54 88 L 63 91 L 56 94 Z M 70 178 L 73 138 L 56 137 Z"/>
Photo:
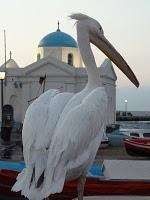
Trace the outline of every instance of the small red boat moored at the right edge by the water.
<path fill-rule="evenodd" d="M 125 139 L 124 145 L 127 153 L 131 156 L 150 157 L 150 139 Z"/>

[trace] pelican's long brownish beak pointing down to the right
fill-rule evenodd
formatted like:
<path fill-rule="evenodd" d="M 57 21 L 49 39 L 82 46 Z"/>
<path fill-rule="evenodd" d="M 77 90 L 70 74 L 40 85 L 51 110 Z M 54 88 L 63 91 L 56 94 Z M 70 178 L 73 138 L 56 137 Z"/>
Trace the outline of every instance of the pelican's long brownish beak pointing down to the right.
<path fill-rule="evenodd" d="M 139 82 L 129 65 L 103 34 L 99 35 L 98 37 L 90 35 L 90 42 L 97 46 L 106 56 L 108 56 L 108 58 L 112 60 L 112 62 L 129 78 L 129 80 L 136 87 L 139 87 Z"/>

